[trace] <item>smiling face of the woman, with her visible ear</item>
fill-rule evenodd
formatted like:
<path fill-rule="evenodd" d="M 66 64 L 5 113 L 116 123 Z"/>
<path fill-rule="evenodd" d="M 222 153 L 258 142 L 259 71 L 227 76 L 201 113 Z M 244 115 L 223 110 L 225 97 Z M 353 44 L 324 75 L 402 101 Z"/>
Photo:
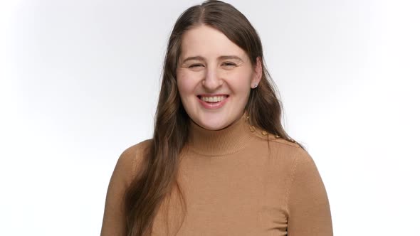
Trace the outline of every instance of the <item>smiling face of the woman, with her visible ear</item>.
<path fill-rule="evenodd" d="M 260 80 L 260 58 L 253 67 L 220 31 L 201 25 L 184 33 L 177 85 L 185 110 L 200 127 L 218 130 L 240 119 Z"/>

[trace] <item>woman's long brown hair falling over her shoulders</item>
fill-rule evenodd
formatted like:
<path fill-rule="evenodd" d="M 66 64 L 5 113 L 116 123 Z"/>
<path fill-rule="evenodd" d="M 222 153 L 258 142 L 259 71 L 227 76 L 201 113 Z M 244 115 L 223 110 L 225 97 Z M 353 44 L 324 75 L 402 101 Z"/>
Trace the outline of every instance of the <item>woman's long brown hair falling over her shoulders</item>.
<path fill-rule="evenodd" d="M 251 90 L 246 104 L 251 124 L 298 144 L 290 139 L 282 127 L 282 104 L 264 65 L 261 40 L 248 19 L 223 1 L 204 1 L 201 5 L 191 6 L 179 16 L 169 37 L 153 138 L 145 151 L 141 171 L 126 191 L 127 236 L 150 235 L 154 216 L 164 198 L 173 188 L 182 193 L 177 182 L 177 171 L 179 154 L 189 134 L 189 117 L 177 90 L 177 64 L 183 34 L 203 24 L 221 31 L 242 48 L 254 67 L 257 58 L 261 58 L 261 82 L 256 89 Z M 298 145 L 304 149 L 301 144 Z"/>

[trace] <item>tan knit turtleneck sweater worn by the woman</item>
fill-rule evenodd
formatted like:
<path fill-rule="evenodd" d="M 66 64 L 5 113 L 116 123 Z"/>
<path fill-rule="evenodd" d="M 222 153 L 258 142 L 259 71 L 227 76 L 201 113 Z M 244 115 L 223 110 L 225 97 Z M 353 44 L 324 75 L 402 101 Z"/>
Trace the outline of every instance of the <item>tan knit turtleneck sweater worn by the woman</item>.
<path fill-rule="evenodd" d="M 192 123 L 190 137 L 178 177 L 187 213 L 177 235 L 332 235 L 324 184 L 298 144 L 254 129 L 245 117 L 221 131 Z M 149 144 L 131 146 L 118 159 L 101 236 L 124 235 L 122 193 Z M 159 208 L 152 235 L 171 235 L 177 228 L 182 207 L 174 196 Z"/>

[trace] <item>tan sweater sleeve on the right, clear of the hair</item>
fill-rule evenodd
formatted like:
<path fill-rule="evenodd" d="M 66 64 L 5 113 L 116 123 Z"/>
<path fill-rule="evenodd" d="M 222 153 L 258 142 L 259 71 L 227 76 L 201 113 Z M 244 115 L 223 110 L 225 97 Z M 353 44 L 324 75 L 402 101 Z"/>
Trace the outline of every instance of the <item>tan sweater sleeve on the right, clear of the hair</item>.
<path fill-rule="evenodd" d="M 331 236 L 330 203 L 312 157 L 301 149 L 288 193 L 288 236 Z"/>

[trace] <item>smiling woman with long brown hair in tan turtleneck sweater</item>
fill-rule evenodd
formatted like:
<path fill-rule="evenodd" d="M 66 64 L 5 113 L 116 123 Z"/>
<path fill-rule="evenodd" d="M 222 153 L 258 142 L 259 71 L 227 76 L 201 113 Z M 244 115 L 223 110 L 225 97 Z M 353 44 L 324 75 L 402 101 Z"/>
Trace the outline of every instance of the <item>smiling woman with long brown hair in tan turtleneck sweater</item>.
<path fill-rule="evenodd" d="M 101 235 L 332 235 L 313 159 L 280 124 L 260 38 L 205 1 L 169 38 L 153 138 L 125 150 Z"/>

